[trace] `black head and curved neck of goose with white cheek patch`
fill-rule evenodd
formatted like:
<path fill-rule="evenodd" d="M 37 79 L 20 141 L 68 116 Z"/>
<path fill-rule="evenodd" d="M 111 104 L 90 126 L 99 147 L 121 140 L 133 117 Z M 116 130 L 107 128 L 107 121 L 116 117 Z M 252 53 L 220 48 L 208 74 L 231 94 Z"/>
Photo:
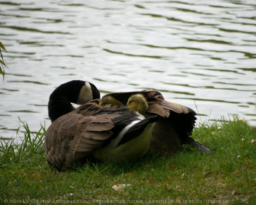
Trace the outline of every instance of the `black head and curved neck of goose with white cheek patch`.
<path fill-rule="evenodd" d="M 90 82 L 72 80 L 57 87 L 50 95 L 48 102 L 48 116 L 54 122 L 75 108 L 71 103 L 83 105 L 90 100 L 100 98 L 100 92 Z"/>

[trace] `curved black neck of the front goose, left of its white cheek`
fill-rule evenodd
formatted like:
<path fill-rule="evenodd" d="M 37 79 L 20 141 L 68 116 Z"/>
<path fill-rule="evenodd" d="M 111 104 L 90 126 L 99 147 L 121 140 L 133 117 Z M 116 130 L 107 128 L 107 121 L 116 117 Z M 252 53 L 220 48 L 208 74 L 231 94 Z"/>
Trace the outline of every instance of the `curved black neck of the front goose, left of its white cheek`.
<path fill-rule="evenodd" d="M 71 103 L 78 101 L 80 90 L 85 83 L 88 82 L 81 80 L 69 81 L 52 92 L 48 102 L 48 116 L 52 122 L 75 109 Z"/>

